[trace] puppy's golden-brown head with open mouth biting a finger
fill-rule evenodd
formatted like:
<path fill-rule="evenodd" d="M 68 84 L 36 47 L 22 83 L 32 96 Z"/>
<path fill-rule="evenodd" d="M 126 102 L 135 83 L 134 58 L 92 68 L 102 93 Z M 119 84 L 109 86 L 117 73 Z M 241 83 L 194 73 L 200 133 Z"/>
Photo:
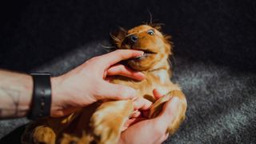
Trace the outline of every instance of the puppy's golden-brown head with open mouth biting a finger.
<path fill-rule="evenodd" d="M 142 50 L 141 57 L 128 60 L 134 70 L 150 70 L 161 66 L 171 54 L 170 36 L 163 35 L 160 26 L 136 26 L 128 31 L 121 29 L 111 34 L 118 49 Z"/>

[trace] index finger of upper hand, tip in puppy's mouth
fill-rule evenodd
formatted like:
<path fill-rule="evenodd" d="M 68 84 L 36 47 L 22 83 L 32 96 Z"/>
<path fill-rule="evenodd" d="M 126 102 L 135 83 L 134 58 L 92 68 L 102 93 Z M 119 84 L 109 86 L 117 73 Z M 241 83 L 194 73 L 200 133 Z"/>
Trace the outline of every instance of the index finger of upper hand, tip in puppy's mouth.
<path fill-rule="evenodd" d="M 142 55 L 144 52 L 139 50 L 114 50 L 111 53 L 104 54 L 101 57 L 103 60 L 102 66 L 105 66 L 105 68 L 108 68 L 122 60 L 128 59 L 128 58 L 134 58 Z"/>

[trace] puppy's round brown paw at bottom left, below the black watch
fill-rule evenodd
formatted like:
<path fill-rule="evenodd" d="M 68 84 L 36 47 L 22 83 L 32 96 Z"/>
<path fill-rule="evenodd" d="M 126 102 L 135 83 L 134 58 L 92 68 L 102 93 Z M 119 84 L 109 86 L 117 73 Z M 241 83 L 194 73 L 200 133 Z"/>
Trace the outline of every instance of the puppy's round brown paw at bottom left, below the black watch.
<path fill-rule="evenodd" d="M 47 126 L 38 126 L 34 129 L 33 141 L 34 143 L 54 144 L 56 134 L 54 130 Z"/>

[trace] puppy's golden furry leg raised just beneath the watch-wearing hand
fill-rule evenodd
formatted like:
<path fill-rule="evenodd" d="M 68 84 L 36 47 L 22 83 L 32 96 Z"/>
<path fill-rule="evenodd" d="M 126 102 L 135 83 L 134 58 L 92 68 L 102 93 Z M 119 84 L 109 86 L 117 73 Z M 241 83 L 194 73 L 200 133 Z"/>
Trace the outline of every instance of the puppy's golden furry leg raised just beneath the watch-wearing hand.
<path fill-rule="evenodd" d="M 122 126 L 133 110 L 131 100 L 102 103 L 90 119 L 96 142 L 100 144 L 118 143 Z"/>

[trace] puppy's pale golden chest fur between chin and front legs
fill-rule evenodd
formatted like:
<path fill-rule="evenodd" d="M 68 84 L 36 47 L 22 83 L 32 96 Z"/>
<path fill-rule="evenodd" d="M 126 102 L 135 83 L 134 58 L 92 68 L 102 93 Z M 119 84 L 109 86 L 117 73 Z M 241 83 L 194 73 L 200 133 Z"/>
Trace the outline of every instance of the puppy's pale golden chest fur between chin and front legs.
<path fill-rule="evenodd" d="M 168 69 L 147 70 L 142 73 L 146 75 L 146 78 L 140 82 L 122 76 L 114 77 L 111 82 L 133 87 L 138 91 L 139 98 L 146 98 L 151 102 L 154 102 L 154 89 L 161 94 L 167 94 L 171 90 L 180 90 L 179 86 L 170 81 L 170 70 Z"/>

